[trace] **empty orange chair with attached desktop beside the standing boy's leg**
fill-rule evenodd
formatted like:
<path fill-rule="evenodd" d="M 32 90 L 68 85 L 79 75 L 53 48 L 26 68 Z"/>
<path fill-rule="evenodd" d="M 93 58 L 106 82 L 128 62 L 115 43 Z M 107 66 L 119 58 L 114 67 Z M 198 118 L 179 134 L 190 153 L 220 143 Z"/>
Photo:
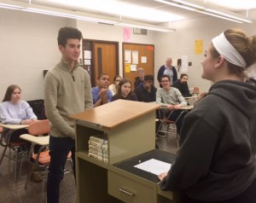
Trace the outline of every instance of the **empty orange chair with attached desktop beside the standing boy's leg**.
<path fill-rule="evenodd" d="M 26 178 L 26 184 L 25 189 L 27 188 L 27 184 L 29 183 L 29 180 L 32 176 L 32 172 L 34 171 L 35 167 L 38 166 L 38 168 L 43 168 L 44 171 L 36 171 L 38 175 L 44 180 L 44 182 L 47 182 L 47 176 L 48 176 L 48 166 L 50 161 L 49 156 L 49 120 L 38 120 L 36 122 L 33 122 L 31 125 L 28 126 L 28 133 L 21 135 L 20 138 L 24 139 L 28 142 L 32 142 L 28 161 L 32 164 L 32 168 L 27 174 Z M 46 135 L 46 136 L 45 136 Z M 38 149 L 38 152 L 34 152 L 34 146 L 35 145 L 41 146 Z M 71 160 L 71 153 L 68 154 L 67 159 Z"/>

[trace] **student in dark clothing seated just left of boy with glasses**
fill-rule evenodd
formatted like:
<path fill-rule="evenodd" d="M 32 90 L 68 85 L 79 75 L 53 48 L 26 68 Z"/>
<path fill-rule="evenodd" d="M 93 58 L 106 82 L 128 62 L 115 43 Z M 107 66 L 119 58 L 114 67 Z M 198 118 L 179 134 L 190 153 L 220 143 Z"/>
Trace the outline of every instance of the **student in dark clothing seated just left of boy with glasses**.
<path fill-rule="evenodd" d="M 137 86 L 135 94 L 139 102 L 155 102 L 156 88 L 154 87 L 153 75 L 144 77 L 143 85 Z"/>

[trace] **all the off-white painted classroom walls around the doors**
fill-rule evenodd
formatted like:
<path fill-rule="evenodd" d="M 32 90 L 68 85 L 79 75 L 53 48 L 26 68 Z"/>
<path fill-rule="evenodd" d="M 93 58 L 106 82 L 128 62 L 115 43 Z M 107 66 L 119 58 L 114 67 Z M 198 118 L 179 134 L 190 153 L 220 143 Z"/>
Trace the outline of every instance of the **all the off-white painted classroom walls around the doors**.
<path fill-rule="evenodd" d="M 77 26 L 84 38 L 119 42 L 119 72 L 122 75 L 123 27 L 0 9 L 0 100 L 9 84 L 20 85 L 24 100 L 44 98 L 43 70 L 54 67 L 60 61 L 56 38 L 61 26 Z M 248 34 L 256 33 L 255 23 L 237 24 L 212 17 L 183 20 L 170 26 L 177 32 L 148 31 L 147 35 L 136 35 L 131 29 L 131 43 L 154 44 L 155 74 L 166 57 L 171 56 L 173 64 L 177 65 L 181 55 L 188 55 L 193 64 L 189 67 L 189 86 L 199 86 L 203 91 L 207 91 L 211 83 L 201 79 L 203 55 L 194 54 L 195 40 L 203 40 L 204 49 L 207 49 L 213 37 L 230 27 L 240 27 Z M 155 84 L 158 86 L 157 82 Z"/>

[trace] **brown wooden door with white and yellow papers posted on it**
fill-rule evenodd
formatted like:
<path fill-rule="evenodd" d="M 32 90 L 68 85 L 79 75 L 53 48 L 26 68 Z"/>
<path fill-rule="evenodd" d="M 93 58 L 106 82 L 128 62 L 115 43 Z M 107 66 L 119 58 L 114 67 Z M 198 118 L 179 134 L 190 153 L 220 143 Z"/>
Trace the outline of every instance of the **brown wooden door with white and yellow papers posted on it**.
<path fill-rule="evenodd" d="M 139 67 L 143 67 L 145 75 L 154 76 L 154 44 L 123 43 L 123 73 L 131 81 L 132 90 Z"/>

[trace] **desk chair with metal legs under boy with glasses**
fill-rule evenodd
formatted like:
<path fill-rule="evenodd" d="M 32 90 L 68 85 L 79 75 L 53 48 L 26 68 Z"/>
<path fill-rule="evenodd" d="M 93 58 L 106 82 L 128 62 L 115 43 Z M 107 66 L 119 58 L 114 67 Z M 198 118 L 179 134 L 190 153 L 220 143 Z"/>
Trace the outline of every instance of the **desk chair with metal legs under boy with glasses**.
<path fill-rule="evenodd" d="M 177 110 L 182 110 L 182 109 L 177 109 Z M 166 111 L 169 111 L 168 109 L 166 108 L 160 108 L 158 109 L 158 112 L 159 112 L 159 119 L 160 119 L 160 125 L 158 127 L 158 130 L 157 130 L 157 134 L 159 132 L 162 132 L 165 134 L 165 136 L 167 136 L 168 134 L 171 134 L 171 133 L 175 133 L 176 135 L 176 142 L 177 142 L 177 147 L 179 146 L 178 142 L 179 142 L 179 135 L 178 135 L 178 131 L 177 131 L 177 122 L 179 122 L 181 119 L 183 119 L 183 117 L 185 116 L 186 113 L 188 113 L 188 110 L 184 109 L 182 110 L 177 118 L 175 120 L 172 120 L 171 117 L 172 117 L 172 114 L 176 111 L 176 110 L 173 110 L 173 111 L 169 111 L 170 113 L 166 116 Z M 163 126 L 166 125 L 167 128 L 166 128 L 166 131 L 163 130 Z M 172 131 L 169 131 L 169 130 L 172 130 Z"/>

